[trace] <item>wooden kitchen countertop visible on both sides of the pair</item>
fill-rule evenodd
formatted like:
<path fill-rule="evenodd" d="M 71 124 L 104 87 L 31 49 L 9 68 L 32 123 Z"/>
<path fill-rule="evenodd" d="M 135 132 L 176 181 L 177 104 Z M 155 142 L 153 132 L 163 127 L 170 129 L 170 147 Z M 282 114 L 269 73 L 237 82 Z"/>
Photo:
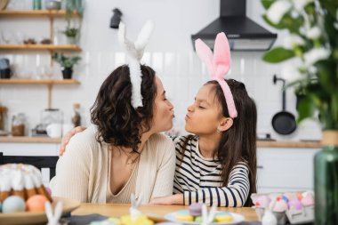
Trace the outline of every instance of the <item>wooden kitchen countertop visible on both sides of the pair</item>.
<path fill-rule="evenodd" d="M 60 143 L 61 138 L 48 137 L 0 137 L 0 142 L 5 143 Z M 319 149 L 321 148 L 319 141 L 257 141 L 258 148 L 305 148 Z"/>

